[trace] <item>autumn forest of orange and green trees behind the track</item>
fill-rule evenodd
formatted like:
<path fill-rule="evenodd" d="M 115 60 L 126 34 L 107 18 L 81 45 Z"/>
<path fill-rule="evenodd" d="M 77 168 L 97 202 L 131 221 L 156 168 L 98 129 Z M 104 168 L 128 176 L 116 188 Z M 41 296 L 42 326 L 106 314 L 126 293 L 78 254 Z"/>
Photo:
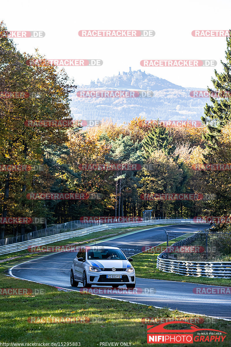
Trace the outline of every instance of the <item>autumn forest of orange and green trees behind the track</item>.
<path fill-rule="evenodd" d="M 7 28 L 0 24 L 0 34 Z M 231 37 L 227 37 L 222 74 L 215 71 L 215 90 L 231 90 Z M 43 170 L 0 171 L 1 217 L 44 217 L 45 226 L 82 216 L 193 218 L 231 214 L 230 170 L 195 170 L 195 165 L 231 163 L 231 102 L 211 98 L 204 124 L 166 128 L 158 120 L 135 117 L 128 124 L 102 121 L 99 127 L 26 126 L 28 120 L 72 119 L 69 94 L 76 86 L 64 70 L 34 64 L 42 59 L 21 54 L 7 35 L 0 35 L 0 165 Z M 29 93 L 28 98 L 6 97 Z M 32 94 L 33 93 L 33 94 Z M 118 115 L 119 117 L 119 115 Z M 153 118 L 154 119 L 154 118 Z M 81 164 L 140 164 L 139 170 L 83 170 Z M 149 166 L 148 166 L 149 164 Z M 147 168 L 152 168 L 149 170 Z M 29 200 L 29 193 L 88 193 L 85 200 Z M 142 200 L 142 194 L 195 193 L 201 200 Z M 95 195 L 94 195 L 95 194 Z M 96 195 L 98 194 L 98 196 Z M 97 197 L 97 198 L 94 198 Z M 44 225 L 0 225 L 0 239 Z"/>

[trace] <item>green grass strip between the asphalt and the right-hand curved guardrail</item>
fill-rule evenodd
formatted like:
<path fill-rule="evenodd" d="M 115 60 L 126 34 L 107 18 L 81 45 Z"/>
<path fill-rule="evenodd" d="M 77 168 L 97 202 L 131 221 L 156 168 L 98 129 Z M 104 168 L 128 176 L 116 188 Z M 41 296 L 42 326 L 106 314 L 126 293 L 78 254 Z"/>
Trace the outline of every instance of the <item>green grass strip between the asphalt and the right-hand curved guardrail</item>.
<path fill-rule="evenodd" d="M 188 235 L 187 235 L 188 236 Z M 171 246 L 176 241 L 185 238 L 186 235 L 169 241 L 169 246 Z M 162 243 L 160 246 L 166 246 L 166 242 Z M 148 252 L 148 251 L 147 251 Z M 153 278 L 158 280 L 168 280 L 168 281 L 179 281 L 179 282 L 192 282 L 199 284 L 207 284 L 214 286 L 227 286 L 231 287 L 231 278 L 207 278 L 207 277 L 193 277 L 193 276 L 183 276 L 178 275 L 173 272 L 163 272 L 157 269 L 157 253 L 147 253 L 143 252 L 133 256 L 133 266 L 135 268 L 136 277 L 143 278 Z M 149 251 L 150 252 L 150 251 Z"/>

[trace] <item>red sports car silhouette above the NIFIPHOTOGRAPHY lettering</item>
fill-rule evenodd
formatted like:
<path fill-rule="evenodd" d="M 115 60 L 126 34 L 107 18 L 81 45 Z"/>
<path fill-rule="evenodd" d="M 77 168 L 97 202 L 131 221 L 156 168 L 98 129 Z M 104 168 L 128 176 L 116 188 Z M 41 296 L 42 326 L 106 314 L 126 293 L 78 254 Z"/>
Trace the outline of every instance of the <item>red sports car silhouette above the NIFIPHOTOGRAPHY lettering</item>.
<path fill-rule="evenodd" d="M 165 326 L 168 324 L 176 324 L 176 323 L 180 323 L 180 324 L 189 324 L 190 325 L 190 329 L 165 329 Z M 162 323 L 157 325 L 156 327 L 154 325 L 147 325 L 147 333 L 175 333 L 175 332 L 181 332 L 181 333 L 193 333 L 199 330 L 210 330 L 210 331 L 219 331 L 222 332 L 224 334 L 226 334 L 226 332 L 221 331 L 221 330 L 215 330 L 215 329 L 202 329 L 197 327 L 196 325 L 193 325 L 191 323 L 187 323 L 187 322 L 183 322 L 183 321 L 175 321 L 175 322 L 166 322 L 166 323 Z"/>

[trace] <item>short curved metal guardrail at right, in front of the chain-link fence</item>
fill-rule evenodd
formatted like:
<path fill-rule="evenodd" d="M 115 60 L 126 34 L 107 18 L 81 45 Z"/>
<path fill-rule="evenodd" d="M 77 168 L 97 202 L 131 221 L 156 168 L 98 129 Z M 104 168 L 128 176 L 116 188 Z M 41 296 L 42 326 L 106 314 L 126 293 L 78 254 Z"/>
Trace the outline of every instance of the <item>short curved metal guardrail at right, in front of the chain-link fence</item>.
<path fill-rule="evenodd" d="M 198 233 L 199 234 L 199 233 Z M 195 236 L 194 236 L 195 235 Z M 171 246 L 181 246 L 189 244 L 196 239 L 196 234 L 189 236 L 184 240 L 178 241 Z M 184 242 L 186 241 L 186 242 Z M 157 268 L 164 272 L 172 272 L 184 276 L 210 277 L 210 278 L 231 278 L 231 262 L 208 262 L 208 261 L 184 261 L 163 259 L 162 255 L 167 252 L 163 251 L 157 257 Z"/>

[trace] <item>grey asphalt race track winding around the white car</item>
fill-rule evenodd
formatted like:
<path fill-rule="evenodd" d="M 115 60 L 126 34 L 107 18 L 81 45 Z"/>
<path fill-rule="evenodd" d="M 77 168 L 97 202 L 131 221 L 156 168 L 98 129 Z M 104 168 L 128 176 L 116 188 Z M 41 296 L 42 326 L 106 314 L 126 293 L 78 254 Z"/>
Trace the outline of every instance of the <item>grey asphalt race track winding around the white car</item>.
<path fill-rule="evenodd" d="M 97 245 L 119 247 L 127 257 L 132 256 L 141 252 L 144 246 L 153 247 L 166 241 L 166 234 L 163 231 L 164 228 L 171 231 L 192 232 L 192 230 L 197 231 L 198 228 L 208 228 L 208 225 L 180 224 L 153 228 L 97 243 Z M 179 235 L 175 235 L 174 237 Z M 70 269 L 75 256 L 76 253 L 73 252 L 52 253 L 40 259 L 16 265 L 11 269 L 10 274 L 21 279 L 79 291 L 82 290 L 81 283 L 76 288 L 70 285 Z M 132 293 L 132 289 L 127 291 L 126 286 L 119 287 L 119 293 L 113 293 L 113 291 L 115 292 L 115 288 L 99 286 L 92 286 L 91 291 L 101 296 L 123 299 L 130 302 L 231 319 L 231 295 L 194 294 L 193 288 L 195 287 L 216 288 L 214 286 L 197 285 L 195 283 L 136 278 L 134 293 Z M 127 291 L 127 293 L 123 293 L 122 289 Z"/>

